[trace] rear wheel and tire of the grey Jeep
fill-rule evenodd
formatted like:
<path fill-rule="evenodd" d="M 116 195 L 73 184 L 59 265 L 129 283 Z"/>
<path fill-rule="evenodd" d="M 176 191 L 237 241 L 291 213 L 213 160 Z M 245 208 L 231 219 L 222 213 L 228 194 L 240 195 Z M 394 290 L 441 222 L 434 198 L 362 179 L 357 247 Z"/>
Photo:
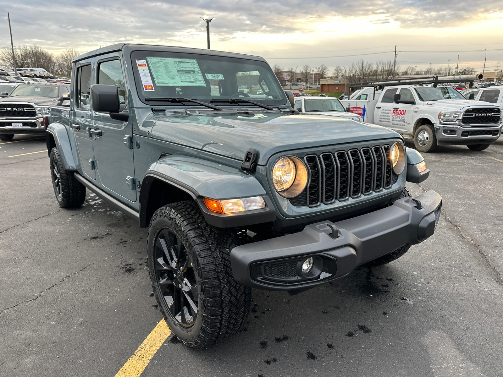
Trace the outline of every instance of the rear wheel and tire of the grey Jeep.
<path fill-rule="evenodd" d="M 75 179 L 73 171 L 66 170 L 56 147 L 49 157 L 52 187 L 61 208 L 80 207 L 86 200 L 86 186 Z M 59 177 L 57 175 L 59 174 Z"/>

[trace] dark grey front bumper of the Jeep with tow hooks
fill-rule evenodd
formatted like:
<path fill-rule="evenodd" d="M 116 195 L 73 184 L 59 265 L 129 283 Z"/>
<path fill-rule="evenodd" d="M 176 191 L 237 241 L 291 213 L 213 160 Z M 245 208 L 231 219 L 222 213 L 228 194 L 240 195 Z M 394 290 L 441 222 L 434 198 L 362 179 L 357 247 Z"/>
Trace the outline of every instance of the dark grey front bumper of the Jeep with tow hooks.
<path fill-rule="evenodd" d="M 366 215 L 323 221 L 298 233 L 237 246 L 230 252 L 232 274 L 238 283 L 263 290 L 311 288 L 403 245 L 424 241 L 433 235 L 441 209 L 442 197 L 430 190 Z M 313 267 L 304 274 L 301 266 L 309 257 Z"/>

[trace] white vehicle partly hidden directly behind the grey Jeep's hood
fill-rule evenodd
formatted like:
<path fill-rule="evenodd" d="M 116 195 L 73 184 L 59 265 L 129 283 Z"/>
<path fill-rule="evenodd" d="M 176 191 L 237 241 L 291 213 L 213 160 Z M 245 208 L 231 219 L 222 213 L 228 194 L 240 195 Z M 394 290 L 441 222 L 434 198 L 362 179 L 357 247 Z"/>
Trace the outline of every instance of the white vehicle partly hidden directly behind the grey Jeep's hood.
<path fill-rule="evenodd" d="M 294 110 L 300 113 L 331 115 L 362 122 L 360 115 L 346 112 L 341 101 L 333 97 L 295 97 Z"/>

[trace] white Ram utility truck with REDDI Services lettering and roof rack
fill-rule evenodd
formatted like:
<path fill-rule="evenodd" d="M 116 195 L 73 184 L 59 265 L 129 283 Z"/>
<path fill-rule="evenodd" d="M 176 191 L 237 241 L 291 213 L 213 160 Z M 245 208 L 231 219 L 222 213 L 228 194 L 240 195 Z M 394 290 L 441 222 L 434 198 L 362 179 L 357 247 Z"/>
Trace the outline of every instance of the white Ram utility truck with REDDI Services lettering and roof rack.
<path fill-rule="evenodd" d="M 500 136 L 501 103 L 467 100 L 458 90 L 440 85 L 473 81 L 480 79 L 479 75 L 448 79 L 434 76 L 421 82 L 395 79 L 357 83 L 354 87 L 367 86 L 366 92 L 342 103 L 347 111 L 361 115 L 364 122 L 385 126 L 404 139 L 413 139 L 420 152 L 431 152 L 438 143 L 486 149 Z M 379 96 L 374 94 L 374 88 L 382 90 Z M 362 98 L 364 95 L 366 99 Z"/>

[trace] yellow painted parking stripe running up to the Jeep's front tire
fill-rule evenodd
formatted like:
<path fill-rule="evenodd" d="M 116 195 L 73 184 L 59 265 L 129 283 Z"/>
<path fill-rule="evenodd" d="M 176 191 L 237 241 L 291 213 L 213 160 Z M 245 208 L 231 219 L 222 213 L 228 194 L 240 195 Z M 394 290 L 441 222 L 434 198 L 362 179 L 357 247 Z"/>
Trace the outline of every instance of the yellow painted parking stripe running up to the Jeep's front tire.
<path fill-rule="evenodd" d="M 167 327 L 164 319 L 159 321 L 129 360 L 120 368 L 115 377 L 139 377 L 152 356 L 155 355 L 155 352 L 157 352 L 170 334 L 171 330 Z"/>

